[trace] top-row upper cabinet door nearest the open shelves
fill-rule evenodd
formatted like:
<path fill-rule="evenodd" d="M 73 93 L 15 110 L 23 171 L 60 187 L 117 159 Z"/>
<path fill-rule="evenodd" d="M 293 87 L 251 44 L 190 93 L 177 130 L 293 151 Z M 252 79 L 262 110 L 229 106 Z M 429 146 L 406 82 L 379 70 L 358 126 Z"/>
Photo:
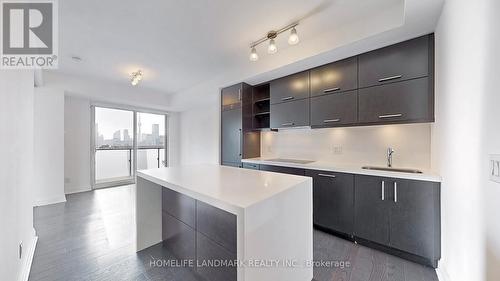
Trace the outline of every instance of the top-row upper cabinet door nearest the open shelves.
<path fill-rule="evenodd" d="M 271 104 L 309 98 L 309 71 L 271 81 L 270 96 Z"/>

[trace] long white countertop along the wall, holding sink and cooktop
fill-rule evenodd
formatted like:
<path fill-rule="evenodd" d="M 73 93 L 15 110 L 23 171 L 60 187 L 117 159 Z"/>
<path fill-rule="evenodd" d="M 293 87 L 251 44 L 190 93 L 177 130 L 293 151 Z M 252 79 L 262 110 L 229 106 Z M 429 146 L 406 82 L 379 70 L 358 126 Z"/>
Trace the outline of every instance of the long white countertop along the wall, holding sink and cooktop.
<path fill-rule="evenodd" d="M 414 173 L 393 172 L 393 171 L 367 170 L 367 169 L 362 169 L 361 165 L 341 165 L 341 164 L 335 164 L 335 163 L 324 162 L 324 161 L 314 161 L 314 162 L 308 163 L 308 164 L 299 164 L 299 163 L 289 163 L 289 162 L 281 162 L 281 161 L 269 161 L 269 160 L 262 159 L 262 158 L 243 159 L 242 162 L 253 163 L 253 164 L 282 166 L 282 167 L 302 168 L 302 169 L 310 169 L 310 170 L 330 171 L 330 172 L 338 172 L 338 173 L 349 173 L 349 174 L 359 174 L 359 175 L 369 175 L 369 176 L 379 176 L 379 177 L 389 177 L 389 178 L 400 178 L 400 179 L 409 179 L 409 180 L 441 182 L 441 177 L 438 174 L 430 172 L 430 171 L 425 171 L 425 170 L 422 170 L 423 173 L 421 173 L 421 174 L 414 174 Z"/>

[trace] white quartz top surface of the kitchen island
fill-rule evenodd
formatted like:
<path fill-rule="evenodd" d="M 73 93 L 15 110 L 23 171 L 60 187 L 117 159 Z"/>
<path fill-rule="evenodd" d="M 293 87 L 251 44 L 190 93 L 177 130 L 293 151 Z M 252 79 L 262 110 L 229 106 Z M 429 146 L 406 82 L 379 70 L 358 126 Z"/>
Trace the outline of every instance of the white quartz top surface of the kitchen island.
<path fill-rule="evenodd" d="M 140 170 L 137 176 L 230 212 L 312 179 L 215 164 Z"/>

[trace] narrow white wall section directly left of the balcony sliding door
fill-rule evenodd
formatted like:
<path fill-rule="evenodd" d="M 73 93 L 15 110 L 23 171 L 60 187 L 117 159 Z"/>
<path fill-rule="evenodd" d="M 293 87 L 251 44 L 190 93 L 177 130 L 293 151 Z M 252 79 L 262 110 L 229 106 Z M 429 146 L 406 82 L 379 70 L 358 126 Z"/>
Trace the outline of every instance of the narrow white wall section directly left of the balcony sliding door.
<path fill-rule="evenodd" d="M 64 191 L 88 191 L 90 185 L 90 101 L 64 100 Z"/>

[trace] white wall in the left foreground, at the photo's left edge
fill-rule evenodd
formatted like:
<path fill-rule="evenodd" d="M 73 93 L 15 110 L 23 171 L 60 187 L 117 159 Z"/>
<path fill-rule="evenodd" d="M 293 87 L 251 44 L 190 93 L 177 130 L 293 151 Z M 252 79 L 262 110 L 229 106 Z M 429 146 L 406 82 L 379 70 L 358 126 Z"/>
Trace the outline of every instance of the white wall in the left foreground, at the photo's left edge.
<path fill-rule="evenodd" d="M 33 229 L 33 71 L 0 70 L 0 279 L 27 277 Z M 23 256 L 18 245 L 23 243 Z"/>

